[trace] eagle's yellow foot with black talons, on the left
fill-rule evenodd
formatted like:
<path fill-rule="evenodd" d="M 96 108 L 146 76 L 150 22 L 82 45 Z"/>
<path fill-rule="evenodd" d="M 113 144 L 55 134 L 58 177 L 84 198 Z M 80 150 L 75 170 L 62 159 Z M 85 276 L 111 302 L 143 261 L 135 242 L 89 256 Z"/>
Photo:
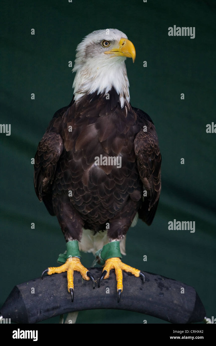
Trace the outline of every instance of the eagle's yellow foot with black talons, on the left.
<path fill-rule="evenodd" d="M 84 280 L 91 280 L 93 282 L 93 288 L 95 288 L 95 279 L 92 274 L 86 269 L 80 262 L 78 257 L 70 257 L 67 261 L 62 264 L 60 267 L 49 267 L 45 269 L 41 275 L 41 279 L 43 279 L 43 275 L 47 273 L 48 275 L 52 275 L 54 273 L 63 273 L 67 272 L 67 280 L 68 280 L 68 292 L 71 294 L 71 300 L 74 301 L 74 271 L 80 272 Z"/>

